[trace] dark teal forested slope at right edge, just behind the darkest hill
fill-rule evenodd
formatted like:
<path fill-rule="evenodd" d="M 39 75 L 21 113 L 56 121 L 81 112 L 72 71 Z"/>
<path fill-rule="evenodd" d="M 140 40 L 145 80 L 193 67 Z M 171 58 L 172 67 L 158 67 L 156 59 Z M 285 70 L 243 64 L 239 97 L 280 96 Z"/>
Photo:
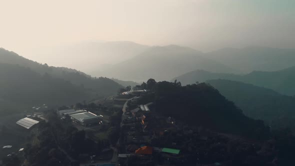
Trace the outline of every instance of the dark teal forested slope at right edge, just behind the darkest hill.
<path fill-rule="evenodd" d="M 295 129 L 294 96 L 282 95 L 271 89 L 232 80 L 214 79 L 206 82 L 233 101 L 247 116 L 262 119 L 272 128 Z"/>

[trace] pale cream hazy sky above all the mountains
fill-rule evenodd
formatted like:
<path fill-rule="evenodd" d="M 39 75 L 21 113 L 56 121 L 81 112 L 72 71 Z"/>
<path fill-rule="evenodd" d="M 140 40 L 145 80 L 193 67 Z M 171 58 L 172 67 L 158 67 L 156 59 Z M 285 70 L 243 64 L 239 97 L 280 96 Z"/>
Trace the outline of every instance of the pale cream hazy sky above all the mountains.
<path fill-rule="evenodd" d="M 295 0 L 0 0 L 0 47 L 38 60 L 88 40 L 295 47 L 294 29 Z"/>

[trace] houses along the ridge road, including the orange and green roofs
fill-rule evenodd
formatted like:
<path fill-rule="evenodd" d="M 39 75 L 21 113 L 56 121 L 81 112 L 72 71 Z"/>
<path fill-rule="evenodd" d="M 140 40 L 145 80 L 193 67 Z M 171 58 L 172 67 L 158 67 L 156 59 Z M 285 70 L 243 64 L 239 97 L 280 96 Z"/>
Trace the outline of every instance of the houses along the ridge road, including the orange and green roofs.
<path fill-rule="evenodd" d="M 158 127 L 159 132 L 155 132 L 156 123 L 159 117 L 155 117 L 154 104 L 136 104 L 141 97 L 129 99 L 128 108 L 123 109 L 121 137 L 119 142 L 119 163 L 126 165 L 131 162 L 135 165 L 153 165 L 154 159 L 181 158 L 179 149 L 168 147 L 157 147 L 152 143 L 153 137 L 159 136 L 166 129 L 166 126 Z M 132 108 L 132 109 L 130 109 Z M 172 125 L 166 122 L 164 117 L 161 121 L 167 126 Z"/>

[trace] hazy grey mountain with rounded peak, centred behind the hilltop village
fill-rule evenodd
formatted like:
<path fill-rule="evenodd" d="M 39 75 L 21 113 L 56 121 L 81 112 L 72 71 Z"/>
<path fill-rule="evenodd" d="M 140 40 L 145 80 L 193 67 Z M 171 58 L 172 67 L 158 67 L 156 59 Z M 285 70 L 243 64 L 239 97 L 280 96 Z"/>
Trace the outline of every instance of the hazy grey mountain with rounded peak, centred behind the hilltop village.
<path fill-rule="evenodd" d="M 169 80 L 171 77 L 195 69 L 237 72 L 226 65 L 206 58 L 200 51 L 167 45 L 149 47 L 137 56 L 92 74 L 142 82 L 150 77 L 156 80 Z"/>

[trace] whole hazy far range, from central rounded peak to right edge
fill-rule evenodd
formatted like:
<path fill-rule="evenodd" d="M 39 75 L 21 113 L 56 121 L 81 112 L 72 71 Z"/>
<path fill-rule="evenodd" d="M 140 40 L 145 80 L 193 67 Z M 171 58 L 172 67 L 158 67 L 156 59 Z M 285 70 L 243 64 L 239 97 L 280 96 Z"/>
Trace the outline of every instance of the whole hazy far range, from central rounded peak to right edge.
<path fill-rule="evenodd" d="M 193 70 L 224 73 L 275 71 L 295 66 L 295 49 L 245 47 L 200 52 L 178 45 L 145 46 L 122 62 L 96 67 L 91 75 L 141 82 L 150 77 L 169 80 Z M 121 53 L 125 56 L 125 53 Z M 135 68 L 135 69 L 134 69 Z"/>

